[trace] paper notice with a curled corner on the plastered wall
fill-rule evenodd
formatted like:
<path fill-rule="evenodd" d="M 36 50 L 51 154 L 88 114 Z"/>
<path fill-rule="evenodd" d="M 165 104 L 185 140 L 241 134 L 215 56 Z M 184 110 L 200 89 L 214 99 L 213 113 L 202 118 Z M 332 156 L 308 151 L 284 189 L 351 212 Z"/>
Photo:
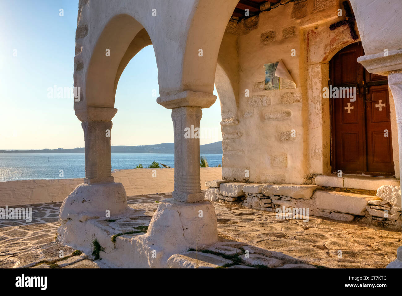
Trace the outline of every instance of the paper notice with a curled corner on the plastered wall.
<path fill-rule="evenodd" d="M 265 64 L 264 67 L 265 90 L 296 88 L 295 82 L 281 60 L 279 60 L 279 62 Z"/>

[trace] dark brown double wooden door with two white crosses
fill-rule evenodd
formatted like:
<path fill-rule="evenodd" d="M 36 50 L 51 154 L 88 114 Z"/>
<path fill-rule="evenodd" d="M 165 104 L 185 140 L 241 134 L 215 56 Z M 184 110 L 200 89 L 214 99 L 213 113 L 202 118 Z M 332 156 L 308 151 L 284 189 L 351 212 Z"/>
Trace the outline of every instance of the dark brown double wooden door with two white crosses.
<path fill-rule="evenodd" d="M 394 175 L 387 77 L 367 72 L 357 62 L 361 42 L 340 50 L 330 61 L 332 88 L 355 87 L 351 96 L 332 98 L 331 162 L 334 171 L 371 176 Z M 388 130 L 388 137 L 387 131 Z"/>

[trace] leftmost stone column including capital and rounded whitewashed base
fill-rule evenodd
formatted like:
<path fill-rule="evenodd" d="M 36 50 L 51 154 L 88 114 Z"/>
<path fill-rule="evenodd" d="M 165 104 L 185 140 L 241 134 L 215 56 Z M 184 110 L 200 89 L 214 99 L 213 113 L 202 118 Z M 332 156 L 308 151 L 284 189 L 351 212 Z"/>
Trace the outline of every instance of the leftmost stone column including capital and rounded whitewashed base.
<path fill-rule="evenodd" d="M 58 232 L 63 243 L 88 241 L 88 233 L 82 232 L 82 222 L 87 219 L 114 217 L 129 209 L 123 184 L 113 182 L 111 174 L 110 131 L 116 112 L 115 108 L 76 110 L 84 129 L 85 178 L 60 207 Z"/>

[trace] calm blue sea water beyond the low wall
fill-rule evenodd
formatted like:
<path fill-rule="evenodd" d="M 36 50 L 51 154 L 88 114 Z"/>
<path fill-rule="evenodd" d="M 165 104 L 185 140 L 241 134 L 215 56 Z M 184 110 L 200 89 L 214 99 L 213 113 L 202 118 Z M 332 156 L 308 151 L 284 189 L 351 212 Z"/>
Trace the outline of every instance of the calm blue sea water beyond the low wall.
<path fill-rule="evenodd" d="M 209 166 L 222 164 L 222 154 L 205 154 Z M 50 161 L 47 161 L 47 159 Z M 112 153 L 112 170 L 144 168 L 156 161 L 174 167 L 174 154 Z M 160 167 L 162 167 L 160 165 Z M 63 170 L 64 177 L 59 176 Z M 0 182 L 84 178 L 84 153 L 0 153 Z"/>

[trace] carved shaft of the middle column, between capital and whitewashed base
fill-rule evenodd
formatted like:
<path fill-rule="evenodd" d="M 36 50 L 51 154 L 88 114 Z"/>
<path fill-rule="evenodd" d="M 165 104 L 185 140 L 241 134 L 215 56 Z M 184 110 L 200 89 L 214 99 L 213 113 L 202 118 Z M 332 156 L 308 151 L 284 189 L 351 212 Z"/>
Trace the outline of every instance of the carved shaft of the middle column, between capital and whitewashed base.
<path fill-rule="evenodd" d="M 174 128 L 174 191 L 177 201 L 192 203 L 204 199 L 200 183 L 200 107 L 172 110 Z"/>

